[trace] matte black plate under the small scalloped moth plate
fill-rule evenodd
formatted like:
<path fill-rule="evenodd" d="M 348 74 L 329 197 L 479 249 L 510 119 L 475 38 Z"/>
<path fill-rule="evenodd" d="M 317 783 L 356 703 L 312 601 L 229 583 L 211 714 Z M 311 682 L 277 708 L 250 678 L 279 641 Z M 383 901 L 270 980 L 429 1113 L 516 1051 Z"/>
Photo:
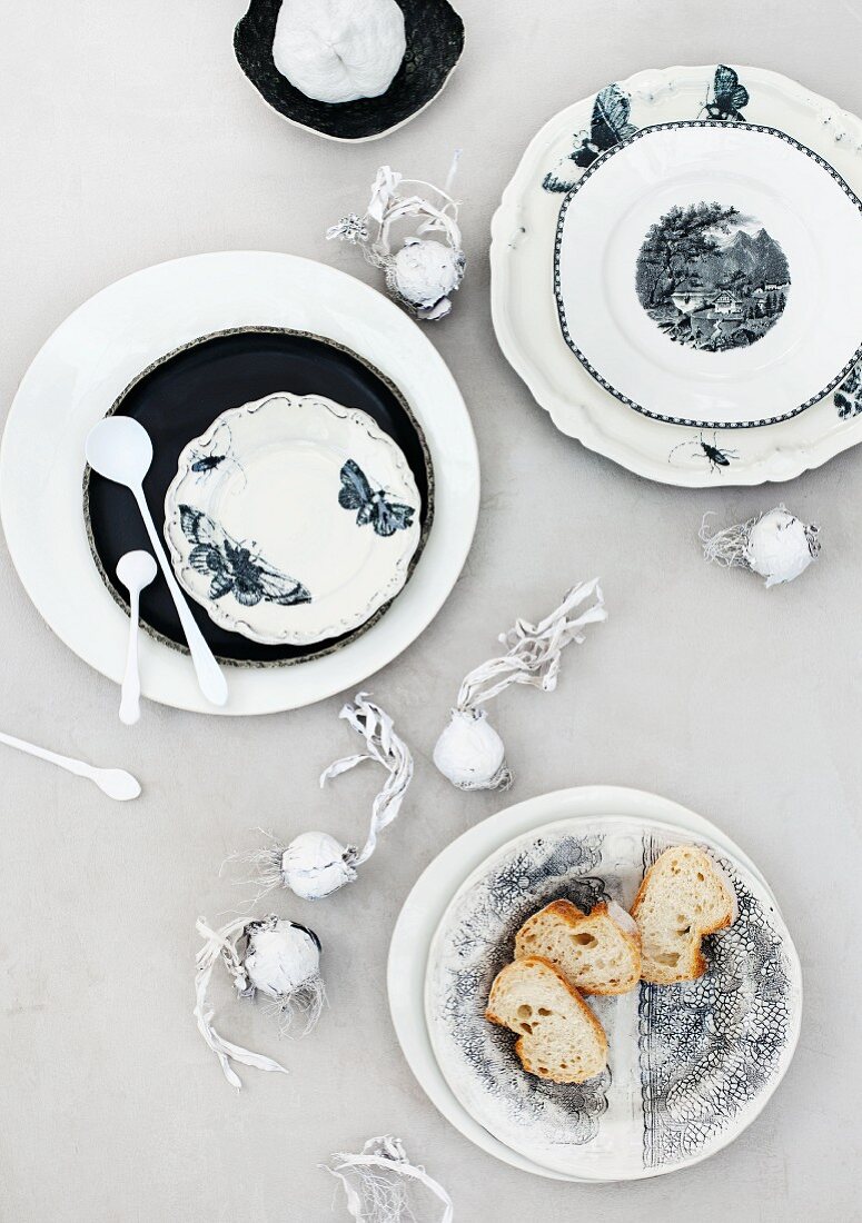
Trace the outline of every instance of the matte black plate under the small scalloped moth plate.
<path fill-rule="evenodd" d="M 252 327 L 207 335 L 163 357 L 123 390 L 111 413 L 134 417 L 153 439 L 154 459 L 144 494 L 157 523 L 164 523 L 165 493 L 176 476 L 181 450 L 221 412 L 274 391 L 314 393 L 359 408 L 397 443 L 422 498 L 422 538 L 412 572 L 428 537 L 434 505 L 430 456 L 422 429 L 401 393 L 379 369 L 335 341 L 303 331 Z M 126 592 L 116 580 L 117 561 L 130 549 L 150 550 L 132 494 L 87 468 L 84 519 L 103 580 L 128 612 Z M 364 632 L 386 610 L 380 608 L 342 637 L 311 646 L 263 646 L 219 627 L 193 600 L 190 608 L 216 657 L 240 667 L 285 665 L 319 658 Z M 186 649 L 161 576 L 142 592 L 141 621 L 165 645 Z"/>

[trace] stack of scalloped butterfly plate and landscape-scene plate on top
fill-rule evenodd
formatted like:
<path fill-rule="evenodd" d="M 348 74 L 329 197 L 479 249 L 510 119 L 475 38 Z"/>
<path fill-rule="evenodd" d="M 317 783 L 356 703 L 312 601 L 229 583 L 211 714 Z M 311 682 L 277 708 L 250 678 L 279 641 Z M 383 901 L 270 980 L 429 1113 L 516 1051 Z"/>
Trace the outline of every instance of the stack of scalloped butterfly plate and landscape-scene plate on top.
<path fill-rule="evenodd" d="M 789 479 L 862 438 L 862 122 L 751 67 L 553 119 L 493 223 L 503 351 L 562 432 L 668 483 Z"/>

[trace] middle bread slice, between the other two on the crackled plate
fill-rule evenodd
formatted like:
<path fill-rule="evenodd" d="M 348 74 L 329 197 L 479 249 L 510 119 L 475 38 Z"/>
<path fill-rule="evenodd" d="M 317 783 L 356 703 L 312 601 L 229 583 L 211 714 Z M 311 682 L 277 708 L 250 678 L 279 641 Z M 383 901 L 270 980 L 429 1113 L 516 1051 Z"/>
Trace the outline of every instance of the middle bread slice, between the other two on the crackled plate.
<path fill-rule="evenodd" d="M 637 923 L 614 900 L 589 915 L 570 900 L 553 900 L 515 936 L 515 956 L 525 955 L 540 955 L 583 993 L 627 993 L 641 980 Z"/>

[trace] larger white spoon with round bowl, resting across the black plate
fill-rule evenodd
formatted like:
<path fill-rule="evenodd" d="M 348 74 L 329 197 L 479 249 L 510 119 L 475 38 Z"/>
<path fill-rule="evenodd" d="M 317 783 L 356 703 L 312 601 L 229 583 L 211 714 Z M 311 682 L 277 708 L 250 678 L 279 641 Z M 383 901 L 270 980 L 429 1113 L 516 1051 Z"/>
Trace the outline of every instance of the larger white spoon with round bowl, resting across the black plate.
<path fill-rule="evenodd" d="M 186 634 L 201 691 L 212 704 L 224 704 L 227 700 L 227 681 L 182 597 L 143 495 L 143 478 L 153 462 L 153 443 L 149 433 L 131 416 L 109 416 L 89 430 L 86 451 L 87 462 L 94 471 L 117 484 L 125 484 L 138 503 L 149 542 L 161 565 L 182 631 Z"/>

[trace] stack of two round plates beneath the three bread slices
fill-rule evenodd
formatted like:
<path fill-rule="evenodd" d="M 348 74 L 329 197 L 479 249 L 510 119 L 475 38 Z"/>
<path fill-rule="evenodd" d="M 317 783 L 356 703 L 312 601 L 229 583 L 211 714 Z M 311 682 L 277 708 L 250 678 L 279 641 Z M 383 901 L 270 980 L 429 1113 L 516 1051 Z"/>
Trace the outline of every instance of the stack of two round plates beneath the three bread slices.
<path fill-rule="evenodd" d="M 527 1075 L 514 1037 L 484 1019 L 515 932 L 559 896 L 628 906 L 672 844 L 697 844 L 734 882 L 740 915 L 705 940 L 694 982 L 591 998 L 609 1070 L 577 1086 Z M 697 1163 L 764 1107 L 792 1058 L 802 983 L 768 883 L 708 821 L 635 790 L 592 786 L 520 804 L 470 829 L 421 876 L 389 959 L 395 1030 L 443 1114 L 514 1167 L 624 1180 Z"/>

